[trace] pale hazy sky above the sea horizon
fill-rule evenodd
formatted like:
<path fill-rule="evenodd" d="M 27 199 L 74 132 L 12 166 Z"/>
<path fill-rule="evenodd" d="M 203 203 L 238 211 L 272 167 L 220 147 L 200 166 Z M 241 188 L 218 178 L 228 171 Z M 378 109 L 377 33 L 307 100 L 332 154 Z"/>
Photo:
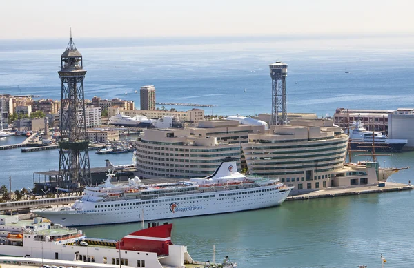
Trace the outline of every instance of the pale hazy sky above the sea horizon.
<path fill-rule="evenodd" d="M 405 0 L 1 0 L 0 39 L 414 33 Z"/>

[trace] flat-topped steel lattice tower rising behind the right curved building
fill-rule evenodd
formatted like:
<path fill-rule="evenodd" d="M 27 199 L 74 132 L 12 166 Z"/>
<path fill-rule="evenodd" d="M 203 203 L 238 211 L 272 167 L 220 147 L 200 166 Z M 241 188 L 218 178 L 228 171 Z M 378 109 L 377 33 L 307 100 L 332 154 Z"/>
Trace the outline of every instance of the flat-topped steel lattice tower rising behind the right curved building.
<path fill-rule="evenodd" d="M 272 117 L 270 125 L 285 125 L 288 123 L 286 111 L 286 76 L 288 65 L 281 61 L 270 64 L 270 77 L 272 78 Z"/>

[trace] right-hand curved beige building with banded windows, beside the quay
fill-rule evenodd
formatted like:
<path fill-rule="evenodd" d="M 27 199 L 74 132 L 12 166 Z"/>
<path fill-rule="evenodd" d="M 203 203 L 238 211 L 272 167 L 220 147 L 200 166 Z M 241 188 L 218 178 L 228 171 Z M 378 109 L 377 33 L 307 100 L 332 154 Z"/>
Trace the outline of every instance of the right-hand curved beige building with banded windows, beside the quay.
<path fill-rule="evenodd" d="M 347 145 L 348 135 L 332 121 L 302 120 L 249 134 L 242 149 L 251 175 L 280 178 L 295 187 L 293 194 L 376 183 L 375 169 L 344 167 Z"/>

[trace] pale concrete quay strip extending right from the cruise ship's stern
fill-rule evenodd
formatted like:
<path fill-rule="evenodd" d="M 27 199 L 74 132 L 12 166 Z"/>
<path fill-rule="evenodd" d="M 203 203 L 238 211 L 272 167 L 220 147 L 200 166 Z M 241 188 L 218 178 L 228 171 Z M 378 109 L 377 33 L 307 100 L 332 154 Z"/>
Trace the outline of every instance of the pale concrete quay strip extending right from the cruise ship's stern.
<path fill-rule="evenodd" d="M 306 194 L 298 194 L 296 196 L 288 196 L 286 201 L 293 200 L 306 200 L 313 198 L 326 198 L 336 196 L 352 196 L 357 194 L 373 194 L 384 192 L 395 192 L 414 189 L 414 185 L 407 185 L 404 183 L 391 183 L 386 182 L 385 186 L 378 187 L 378 185 L 367 185 L 359 187 L 347 187 L 342 189 L 323 189 L 319 191 L 309 192 Z"/>

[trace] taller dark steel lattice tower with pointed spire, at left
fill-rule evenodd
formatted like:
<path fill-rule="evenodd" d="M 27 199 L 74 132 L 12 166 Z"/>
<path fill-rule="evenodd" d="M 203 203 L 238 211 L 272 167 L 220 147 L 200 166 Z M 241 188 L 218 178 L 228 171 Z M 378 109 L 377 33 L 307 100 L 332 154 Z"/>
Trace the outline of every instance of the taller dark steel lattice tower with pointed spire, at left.
<path fill-rule="evenodd" d="M 71 192 L 80 185 L 90 185 L 88 134 L 86 133 L 85 97 L 83 94 L 83 59 L 72 41 L 72 32 L 61 55 L 60 141 L 58 187 Z"/>

